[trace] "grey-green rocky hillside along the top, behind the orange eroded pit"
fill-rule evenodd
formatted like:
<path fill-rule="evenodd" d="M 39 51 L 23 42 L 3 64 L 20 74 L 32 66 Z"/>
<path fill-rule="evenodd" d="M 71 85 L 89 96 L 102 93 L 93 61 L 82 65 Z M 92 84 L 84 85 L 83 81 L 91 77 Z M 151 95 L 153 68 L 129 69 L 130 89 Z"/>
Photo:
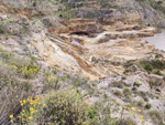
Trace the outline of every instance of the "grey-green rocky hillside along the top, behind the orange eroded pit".
<path fill-rule="evenodd" d="M 14 7 L 35 9 L 64 19 L 87 18 L 105 21 L 110 18 L 141 20 L 146 25 L 165 27 L 164 0 L 1 0 Z"/>

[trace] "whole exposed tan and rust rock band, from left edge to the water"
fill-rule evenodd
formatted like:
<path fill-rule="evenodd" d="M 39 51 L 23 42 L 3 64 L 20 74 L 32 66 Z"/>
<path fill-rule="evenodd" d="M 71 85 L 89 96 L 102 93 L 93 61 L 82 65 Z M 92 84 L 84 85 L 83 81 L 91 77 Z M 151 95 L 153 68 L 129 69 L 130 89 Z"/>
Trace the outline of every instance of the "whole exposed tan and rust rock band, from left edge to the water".
<path fill-rule="evenodd" d="M 10 35 L 1 35 L 2 43 L 10 44 L 13 51 L 20 53 L 28 50 L 52 67 L 85 74 L 92 80 L 114 75 L 117 72 L 123 74 L 122 65 L 105 65 L 105 61 L 123 63 L 141 60 L 157 52 L 152 44 L 140 38 L 151 37 L 160 31 L 156 28 L 140 25 L 141 18 L 138 17 L 138 12 L 105 21 L 61 21 L 59 18 L 51 15 L 33 20 L 32 11 L 13 8 L 4 2 L 1 2 L 1 32 Z M 73 44 L 72 41 L 78 42 L 79 45 Z"/>

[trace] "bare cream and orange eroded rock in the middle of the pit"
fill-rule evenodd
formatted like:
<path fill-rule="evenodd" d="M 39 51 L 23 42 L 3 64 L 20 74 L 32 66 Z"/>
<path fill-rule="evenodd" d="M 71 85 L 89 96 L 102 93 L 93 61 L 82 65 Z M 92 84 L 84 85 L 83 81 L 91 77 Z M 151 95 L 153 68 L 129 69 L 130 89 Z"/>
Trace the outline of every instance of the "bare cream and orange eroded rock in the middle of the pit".
<path fill-rule="evenodd" d="M 21 22 L 20 20 L 18 22 Z M 54 27 L 50 31 L 50 24 L 43 22 L 43 20 L 29 24 L 30 32 L 26 31 L 29 33 L 25 33 L 31 37 L 25 37 L 24 33 L 21 37 L 23 41 L 28 42 L 26 48 L 30 52 L 41 58 L 52 67 L 80 73 L 91 80 L 124 73 L 124 69 L 120 63 L 110 65 L 109 60 L 118 60 L 119 62 L 140 60 L 150 56 L 150 53 L 155 51 L 152 44 L 136 39 L 139 37 L 154 35 L 157 32 L 155 28 L 125 24 L 119 29 L 113 24 L 102 27 L 101 23 L 95 20 L 76 19 L 58 22 L 62 24 L 58 29 L 55 29 L 57 23 L 52 23 Z M 21 25 L 24 27 L 25 24 Z M 18 30 L 18 32 L 21 31 Z M 97 37 L 91 38 L 91 35 Z M 76 40 L 80 45 L 72 44 L 70 40 Z M 8 42 L 6 44 L 9 45 Z M 19 48 L 19 45 L 21 44 L 18 43 L 15 46 L 13 44 L 12 49 Z M 15 51 L 23 52 L 23 50 Z M 90 60 L 91 56 L 97 60 Z"/>

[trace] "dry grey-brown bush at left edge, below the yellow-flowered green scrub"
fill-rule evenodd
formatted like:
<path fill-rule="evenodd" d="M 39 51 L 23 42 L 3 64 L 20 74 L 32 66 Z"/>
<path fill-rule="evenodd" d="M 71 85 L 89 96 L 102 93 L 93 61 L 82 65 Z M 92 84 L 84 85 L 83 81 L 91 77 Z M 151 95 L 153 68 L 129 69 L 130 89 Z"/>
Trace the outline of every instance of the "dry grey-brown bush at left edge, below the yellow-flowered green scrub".
<path fill-rule="evenodd" d="M 16 66 L 0 64 L 0 125 L 14 122 L 14 116 L 20 111 L 20 100 L 31 96 L 33 93 L 32 83 L 18 80 Z"/>

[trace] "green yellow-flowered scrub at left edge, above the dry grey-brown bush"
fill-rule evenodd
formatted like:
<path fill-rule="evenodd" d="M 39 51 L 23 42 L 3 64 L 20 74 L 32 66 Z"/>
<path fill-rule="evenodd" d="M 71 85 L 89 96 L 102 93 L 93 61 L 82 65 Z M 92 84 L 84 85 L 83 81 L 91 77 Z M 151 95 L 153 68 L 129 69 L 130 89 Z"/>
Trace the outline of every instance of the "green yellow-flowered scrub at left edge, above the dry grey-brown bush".
<path fill-rule="evenodd" d="M 38 72 L 35 58 L 23 60 L 10 52 L 0 49 L 0 66 L 6 66 L 21 74 L 24 79 L 33 77 Z"/>

